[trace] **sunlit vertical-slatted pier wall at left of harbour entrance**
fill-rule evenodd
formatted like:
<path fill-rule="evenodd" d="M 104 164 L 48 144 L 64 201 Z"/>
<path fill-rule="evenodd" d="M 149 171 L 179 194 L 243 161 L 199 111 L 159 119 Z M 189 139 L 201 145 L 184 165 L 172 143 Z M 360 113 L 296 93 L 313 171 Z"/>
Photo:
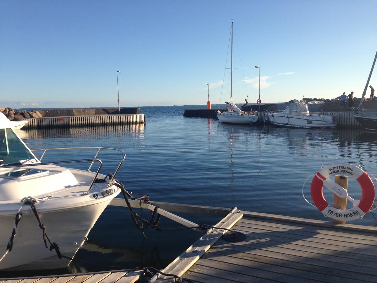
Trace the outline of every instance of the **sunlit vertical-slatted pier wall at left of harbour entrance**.
<path fill-rule="evenodd" d="M 29 118 L 23 129 L 72 128 L 104 125 L 145 123 L 144 114 L 80 115 L 63 117 Z"/>

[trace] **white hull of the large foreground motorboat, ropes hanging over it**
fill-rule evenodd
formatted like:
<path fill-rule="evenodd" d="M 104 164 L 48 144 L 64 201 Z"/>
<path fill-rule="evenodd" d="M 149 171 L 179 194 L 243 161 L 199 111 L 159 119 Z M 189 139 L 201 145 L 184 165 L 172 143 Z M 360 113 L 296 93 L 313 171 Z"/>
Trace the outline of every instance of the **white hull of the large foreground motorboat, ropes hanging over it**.
<path fill-rule="evenodd" d="M 74 257 L 84 244 L 85 237 L 98 217 L 119 192 L 120 190 L 103 198 L 102 201 L 98 201 L 100 200 L 98 199 L 92 203 L 84 203 L 77 208 L 39 213 L 50 240 L 58 244 L 62 255 Z M 35 206 L 37 210 L 42 207 L 39 203 Z M 0 216 L 0 251 L 6 251 L 14 218 L 15 215 Z M 17 234 L 14 237 L 13 248 L 0 262 L 0 269 L 3 271 L 57 269 L 65 268 L 69 263 L 69 259 L 59 259 L 55 250 L 50 251 L 49 248 L 46 248 L 43 242 L 43 232 L 35 215 L 29 209 L 28 212 L 22 213 L 17 226 Z"/>

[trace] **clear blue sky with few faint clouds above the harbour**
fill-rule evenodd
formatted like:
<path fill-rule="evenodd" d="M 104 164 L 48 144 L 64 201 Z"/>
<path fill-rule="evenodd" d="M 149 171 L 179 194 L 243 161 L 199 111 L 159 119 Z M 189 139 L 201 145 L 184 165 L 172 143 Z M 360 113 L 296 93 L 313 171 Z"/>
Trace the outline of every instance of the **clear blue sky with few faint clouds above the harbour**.
<path fill-rule="evenodd" d="M 236 103 L 257 100 L 255 65 L 262 103 L 361 97 L 376 11 L 375 0 L 3 0 L 0 106 L 117 107 L 117 70 L 121 107 L 206 104 L 207 83 L 222 103 L 231 19 Z"/>

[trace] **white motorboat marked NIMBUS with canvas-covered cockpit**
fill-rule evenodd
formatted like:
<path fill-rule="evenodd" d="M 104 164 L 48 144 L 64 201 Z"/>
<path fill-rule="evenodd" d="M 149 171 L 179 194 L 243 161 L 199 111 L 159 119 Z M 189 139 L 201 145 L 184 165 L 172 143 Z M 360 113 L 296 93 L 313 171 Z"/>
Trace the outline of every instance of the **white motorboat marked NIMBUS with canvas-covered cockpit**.
<path fill-rule="evenodd" d="M 276 126 L 285 126 L 292 128 L 335 128 L 337 123 L 329 115 L 311 114 L 308 104 L 314 102 L 293 102 L 290 103 L 283 112 L 267 112 L 267 119 Z M 315 102 L 323 104 L 324 102 Z"/>

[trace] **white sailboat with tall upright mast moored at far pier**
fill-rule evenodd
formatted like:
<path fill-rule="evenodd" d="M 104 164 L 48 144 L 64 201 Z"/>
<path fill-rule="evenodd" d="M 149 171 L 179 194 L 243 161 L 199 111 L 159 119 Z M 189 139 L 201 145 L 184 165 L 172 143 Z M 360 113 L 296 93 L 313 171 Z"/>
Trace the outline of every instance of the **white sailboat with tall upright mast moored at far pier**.
<path fill-rule="evenodd" d="M 258 116 L 241 111 L 237 105 L 232 102 L 232 71 L 233 71 L 233 22 L 231 28 L 231 52 L 230 52 L 230 100 L 227 104 L 226 112 L 217 111 L 217 118 L 221 123 L 228 124 L 250 124 L 257 122 Z"/>

